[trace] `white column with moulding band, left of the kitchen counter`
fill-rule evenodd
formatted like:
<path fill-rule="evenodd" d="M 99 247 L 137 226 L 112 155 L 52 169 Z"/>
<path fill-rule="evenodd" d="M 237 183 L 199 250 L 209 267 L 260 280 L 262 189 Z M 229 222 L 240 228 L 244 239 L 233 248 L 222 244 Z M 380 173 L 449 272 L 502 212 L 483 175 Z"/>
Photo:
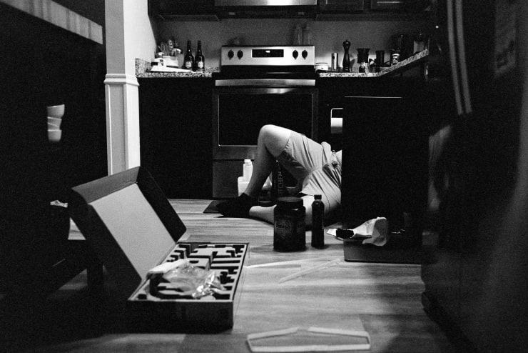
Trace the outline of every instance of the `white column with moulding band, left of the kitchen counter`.
<path fill-rule="evenodd" d="M 139 166 L 136 58 L 156 51 L 148 0 L 106 0 L 106 146 L 108 174 Z"/>

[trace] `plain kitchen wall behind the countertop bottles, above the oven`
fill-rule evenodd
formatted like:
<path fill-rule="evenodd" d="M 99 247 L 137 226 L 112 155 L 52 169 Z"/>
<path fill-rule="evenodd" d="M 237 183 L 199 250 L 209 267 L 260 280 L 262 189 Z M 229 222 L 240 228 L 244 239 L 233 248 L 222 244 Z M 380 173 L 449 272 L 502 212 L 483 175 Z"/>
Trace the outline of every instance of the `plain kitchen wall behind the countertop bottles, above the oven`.
<path fill-rule="evenodd" d="M 309 24 L 315 61 L 328 62 L 330 54 L 339 53 L 342 59 L 342 42 L 351 43 L 351 59 L 355 59 L 355 48 L 370 48 L 372 58 L 375 50 L 385 50 L 385 60 L 392 47 L 392 34 L 416 34 L 427 29 L 425 21 L 313 21 L 308 19 L 223 19 L 221 21 L 161 21 L 158 24 L 157 41 L 175 36 L 179 46 L 185 51 L 190 39 L 193 51 L 196 43 L 202 41 L 206 66 L 220 66 L 220 46 L 227 45 L 235 37 L 243 39 L 245 44 L 292 44 L 295 24 Z M 153 58 L 152 53 L 152 57 Z M 183 54 L 178 57 L 183 61 Z"/>

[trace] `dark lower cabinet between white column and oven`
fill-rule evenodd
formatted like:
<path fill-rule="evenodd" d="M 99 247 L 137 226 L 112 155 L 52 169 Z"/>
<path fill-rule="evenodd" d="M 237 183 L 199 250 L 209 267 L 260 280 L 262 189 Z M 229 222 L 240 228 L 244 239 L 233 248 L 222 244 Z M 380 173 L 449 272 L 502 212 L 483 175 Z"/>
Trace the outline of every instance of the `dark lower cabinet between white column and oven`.
<path fill-rule="evenodd" d="M 210 199 L 210 78 L 138 79 L 141 165 L 168 198 Z"/>

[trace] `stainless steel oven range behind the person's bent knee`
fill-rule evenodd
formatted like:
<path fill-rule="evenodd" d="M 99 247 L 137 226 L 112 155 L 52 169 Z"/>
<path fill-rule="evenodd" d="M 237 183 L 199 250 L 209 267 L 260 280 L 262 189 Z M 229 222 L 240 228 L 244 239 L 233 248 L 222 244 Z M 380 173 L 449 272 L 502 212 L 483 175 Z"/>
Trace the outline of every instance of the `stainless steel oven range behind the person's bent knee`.
<path fill-rule="evenodd" d="M 313 46 L 222 48 L 213 89 L 213 198 L 236 197 L 258 131 L 275 124 L 318 138 Z"/>

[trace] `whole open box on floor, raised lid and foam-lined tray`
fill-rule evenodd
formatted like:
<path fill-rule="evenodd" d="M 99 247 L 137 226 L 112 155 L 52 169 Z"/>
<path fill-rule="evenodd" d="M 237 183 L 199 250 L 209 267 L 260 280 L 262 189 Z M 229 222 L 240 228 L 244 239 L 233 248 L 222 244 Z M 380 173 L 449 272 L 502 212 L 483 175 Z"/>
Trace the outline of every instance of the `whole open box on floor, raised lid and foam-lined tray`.
<path fill-rule="evenodd" d="M 151 174 L 141 166 L 71 189 L 68 210 L 106 267 L 133 332 L 218 332 L 233 327 L 237 286 L 248 243 L 178 242 L 186 232 Z M 182 297 L 170 283 L 151 283 L 158 264 L 188 259 L 215 270 L 224 291 Z"/>

